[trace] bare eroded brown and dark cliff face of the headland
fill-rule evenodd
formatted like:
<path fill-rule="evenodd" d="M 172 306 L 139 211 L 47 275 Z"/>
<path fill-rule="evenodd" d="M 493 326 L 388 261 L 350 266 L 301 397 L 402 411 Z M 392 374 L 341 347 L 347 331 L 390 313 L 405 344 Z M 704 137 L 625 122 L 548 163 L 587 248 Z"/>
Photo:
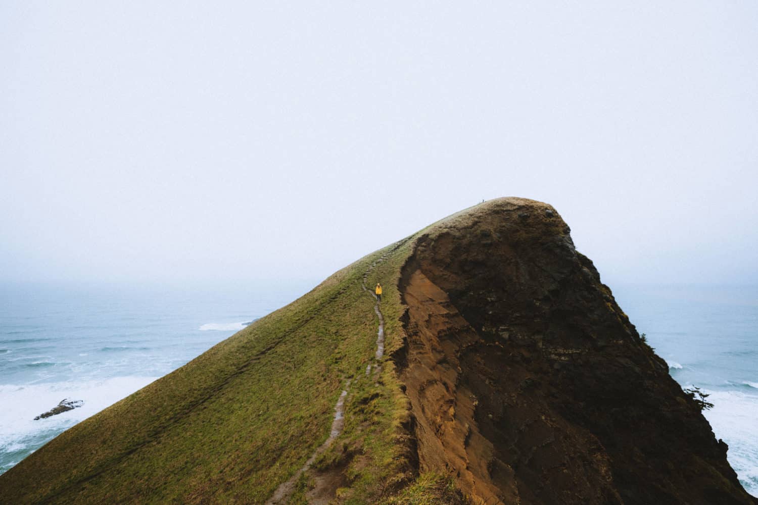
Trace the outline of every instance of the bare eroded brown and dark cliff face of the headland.
<path fill-rule="evenodd" d="M 421 470 L 474 503 L 756 503 L 550 205 L 437 223 L 400 288 Z"/>

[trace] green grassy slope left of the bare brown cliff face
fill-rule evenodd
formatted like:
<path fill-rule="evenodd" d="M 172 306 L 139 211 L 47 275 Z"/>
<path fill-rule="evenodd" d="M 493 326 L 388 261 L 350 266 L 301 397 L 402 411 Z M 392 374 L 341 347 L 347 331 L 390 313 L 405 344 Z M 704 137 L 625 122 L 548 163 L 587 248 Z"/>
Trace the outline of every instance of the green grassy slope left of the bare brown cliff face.
<path fill-rule="evenodd" d="M 345 429 L 315 468 L 347 465 L 340 494 L 354 503 L 406 482 L 407 405 L 392 363 L 365 375 L 377 318 L 362 278 L 384 285 L 389 356 L 401 345 L 396 282 L 411 244 L 369 254 L 62 433 L 0 475 L 0 503 L 262 503 L 327 438 L 347 379 Z"/>

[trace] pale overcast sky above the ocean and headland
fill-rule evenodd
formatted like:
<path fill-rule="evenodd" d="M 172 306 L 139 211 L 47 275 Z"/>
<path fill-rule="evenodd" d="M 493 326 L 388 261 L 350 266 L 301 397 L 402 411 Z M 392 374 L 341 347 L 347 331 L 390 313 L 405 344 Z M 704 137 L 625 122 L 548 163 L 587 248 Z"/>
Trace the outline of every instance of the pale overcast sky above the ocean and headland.
<path fill-rule="evenodd" d="M 758 282 L 758 2 L 159 3 L 0 4 L 0 279 L 321 279 L 522 196 L 606 281 Z"/>

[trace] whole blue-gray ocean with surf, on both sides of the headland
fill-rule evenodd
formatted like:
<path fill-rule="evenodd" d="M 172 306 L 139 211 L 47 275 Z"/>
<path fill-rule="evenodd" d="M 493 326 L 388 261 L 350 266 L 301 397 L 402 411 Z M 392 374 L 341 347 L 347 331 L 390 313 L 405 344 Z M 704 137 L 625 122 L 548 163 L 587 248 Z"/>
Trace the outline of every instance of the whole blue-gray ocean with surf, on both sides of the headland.
<path fill-rule="evenodd" d="M 314 284 L 0 286 L 0 472 Z M 611 287 L 674 379 L 710 394 L 706 417 L 758 495 L 758 287 Z M 33 420 L 64 398 L 84 406 Z"/>

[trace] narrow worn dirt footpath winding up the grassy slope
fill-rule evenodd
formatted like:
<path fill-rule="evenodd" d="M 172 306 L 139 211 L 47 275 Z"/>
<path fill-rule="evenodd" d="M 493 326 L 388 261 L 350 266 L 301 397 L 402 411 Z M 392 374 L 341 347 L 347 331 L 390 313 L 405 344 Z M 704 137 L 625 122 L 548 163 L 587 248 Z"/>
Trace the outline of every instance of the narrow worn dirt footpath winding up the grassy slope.
<path fill-rule="evenodd" d="M 368 270 L 366 270 L 366 272 L 363 274 L 363 291 L 367 291 L 368 294 L 374 298 L 374 312 L 377 314 L 377 318 L 379 319 L 379 330 L 377 332 L 377 351 L 374 354 L 375 363 L 373 365 L 369 364 L 366 367 L 367 376 L 369 373 L 371 373 L 371 366 L 374 367 L 374 373 L 381 371 L 379 360 L 381 360 L 381 358 L 384 356 L 384 316 L 379 309 L 379 300 L 377 296 L 374 295 L 373 291 L 366 287 L 366 279 L 368 277 L 368 273 L 371 272 L 371 270 L 373 270 L 378 263 L 381 263 L 381 261 L 384 260 L 385 256 L 387 256 L 387 254 L 384 254 L 384 256 L 381 256 L 379 259 L 374 261 L 374 263 L 371 263 L 371 267 L 368 267 Z M 340 397 L 337 399 L 337 404 L 334 406 L 334 419 L 332 420 L 331 431 L 329 432 L 327 439 L 323 444 L 318 446 L 313 454 L 311 454 L 311 457 L 305 461 L 305 465 L 303 465 L 301 469 L 295 472 L 294 475 L 290 477 L 290 479 L 287 479 L 287 481 L 282 482 L 279 485 L 277 490 L 274 491 L 274 494 L 272 494 L 271 497 L 266 501 L 265 505 L 285 505 L 290 500 L 290 497 L 292 497 L 292 494 L 295 492 L 295 487 L 297 485 L 297 481 L 300 479 L 300 475 L 307 472 L 315 462 L 316 458 L 325 450 L 327 450 L 332 442 L 334 442 L 334 439 L 337 438 L 340 433 L 342 433 L 342 429 L 345 426 L 345 399 L 350 388 L 350 382 L 352 382 L 352 379 L 347 380 L 345 383 L 345 388 L 342 390 Z M 318 489 L 312 490 L 311 493 L 314 491 L 318 491 Z"/>

